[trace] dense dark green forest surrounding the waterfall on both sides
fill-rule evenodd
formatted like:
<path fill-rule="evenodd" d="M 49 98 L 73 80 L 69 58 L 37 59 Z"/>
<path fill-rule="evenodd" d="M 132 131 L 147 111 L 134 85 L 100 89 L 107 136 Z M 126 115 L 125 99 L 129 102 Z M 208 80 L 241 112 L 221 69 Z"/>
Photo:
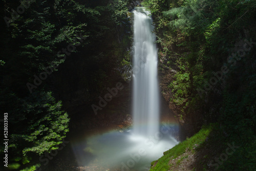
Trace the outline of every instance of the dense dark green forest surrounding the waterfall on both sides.
<path fill-rule="evenodd" d="M 0 4 L 0 135 L 9 139 L 8 170 L 43 170 L 39 157 L 65 146 L 65 137 L 79 120 L 75 109 L 87 106 L 87 124 L 99 123 L 102 108 L 92 109 L 91 104 L 116 82 L 130 84 L 135 6 L 152 13 L 161 95 L 181 123 L 183 136 L 189 138 L 210 125 L 214 131 L 206 138 L 218 144 L 216 156 L 227 144 L 240 146 L 218 167 L 198 170 L 256 169 L 254 0 Z M 4 156 L 6 145 L 0 147 Z M 160 161 L 153 162 L 152 170 L 170 169 Z"/>

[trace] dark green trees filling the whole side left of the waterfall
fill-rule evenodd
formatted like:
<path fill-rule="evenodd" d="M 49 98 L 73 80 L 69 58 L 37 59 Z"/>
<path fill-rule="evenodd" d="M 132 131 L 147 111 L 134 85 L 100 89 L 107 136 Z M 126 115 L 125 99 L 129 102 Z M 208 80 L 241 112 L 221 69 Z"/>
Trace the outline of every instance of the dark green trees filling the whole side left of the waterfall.
<path fill-rule="evenodd" d="M 2 18 L 11 18 L 12 9 L 20 5 L 10 0 L 0 3 Z M 2 112 L 10 114 L 8 153 L 15 156 L 9 158 L 9 168 L 35 170 L 39 156 L 56 149 L 66 136 L 68 114 L 62 111 L 56 97 L 62 99 L 63 94 L 67 95 L 63 92 L 82 87 L 93 96 L 87 95 L 90 99 L 84 100 L 92 101 L 110 85 L 111 79 L 116 79 L 113 68 L 123 58 L 129 60 L 128 5 L 129 1 L 120 0 L 35 0 L 10 21 L 10 27 L 1 28 L 0 105 Z M 66 60 L 61 59 L 65 56 L 63 49 L 72 45 L 75 50 L 67 51 Z M 39 76 L 53 65 L 58 68 L 30 94 L 26 83 L 33 83 L 34 75 Z M 73 68 L 69 73 L 70 66 Z M 58 74 L 65 75 L 66 90 L 62 89 L 65 86 Z M 0 147 L 2 154 L 3 144 Z"/>

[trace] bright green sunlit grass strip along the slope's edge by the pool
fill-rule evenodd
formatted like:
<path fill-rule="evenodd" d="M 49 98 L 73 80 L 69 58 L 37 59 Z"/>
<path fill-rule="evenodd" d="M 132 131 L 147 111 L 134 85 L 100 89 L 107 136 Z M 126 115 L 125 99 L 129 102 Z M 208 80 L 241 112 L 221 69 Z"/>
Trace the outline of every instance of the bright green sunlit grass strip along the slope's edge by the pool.
<path fill-rule="evenodd" d="M 150 171 L 169 170 L 170 169 L 169 161 L 171 159 L 176 159 L 178 156 L 185 153 L 186 148 L 188 148 L 190 151 L 193 151 L 193 148 L 195 147 L 194 145 L 202 144 L 214 127 L 215 127 L 215 124 L 203 126 L 202 129 L 197 134 L 195 134 L 193 137 L 187 138 L 185 141 L 177 144 L 173 148 L 164 152 L 164 155 L 161 158 L 159 158 L 158 160 L 153 161 L 151 163 L 152 166 L 153 165 L 155 165 L 155 166 L 152 167 L 150 169 Z M 178 161 L 178 162 L 180 163 L 180 161 Z M 179 164 L 179 163 L 177 163 L 177 164 Z"/>

